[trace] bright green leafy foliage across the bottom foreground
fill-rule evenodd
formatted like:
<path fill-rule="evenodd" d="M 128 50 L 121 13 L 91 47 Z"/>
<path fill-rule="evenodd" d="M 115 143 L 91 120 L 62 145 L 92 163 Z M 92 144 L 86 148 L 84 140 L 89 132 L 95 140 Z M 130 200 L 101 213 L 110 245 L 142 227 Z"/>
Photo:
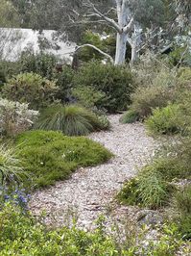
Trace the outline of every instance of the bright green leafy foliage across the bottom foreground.
<path fill-rule="evenodd" d="M 175 225 L 164 225 L 159 230 L 157 243 L 149 240 L 147 246 L 137 243 L 133 234 L 119 243 L 108 235 L 104 219 L 98 219 L 94 231 L 77 228 L 47 228 L 30 214 L 6 204 L 0 212 L 0 255 L 55 255 L 55 256 L 131 256 L 131 255 L 176 255 L 182 245 Z M 133 232 L 134 233 L 134 232 Z M 139 230 L 138 242 L 144 235 Z M 121 234 L 120 234 L 121 235 Z"/>

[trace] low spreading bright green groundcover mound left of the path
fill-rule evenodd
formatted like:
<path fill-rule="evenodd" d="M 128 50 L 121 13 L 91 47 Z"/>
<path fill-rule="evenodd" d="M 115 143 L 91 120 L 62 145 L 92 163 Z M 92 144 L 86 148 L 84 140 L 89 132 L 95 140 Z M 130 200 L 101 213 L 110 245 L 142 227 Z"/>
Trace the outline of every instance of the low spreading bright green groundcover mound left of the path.
<path fill-rule="evenodd" d="M 95 166 L 106 162 L 111 153 L 97 142 L 86 138 L 65 137 L 59 132 L 31 131 L 16 139 L 19 156 L 25 163 L 36 188 L 55 184 L 69 177 L 79 166 Z"/>

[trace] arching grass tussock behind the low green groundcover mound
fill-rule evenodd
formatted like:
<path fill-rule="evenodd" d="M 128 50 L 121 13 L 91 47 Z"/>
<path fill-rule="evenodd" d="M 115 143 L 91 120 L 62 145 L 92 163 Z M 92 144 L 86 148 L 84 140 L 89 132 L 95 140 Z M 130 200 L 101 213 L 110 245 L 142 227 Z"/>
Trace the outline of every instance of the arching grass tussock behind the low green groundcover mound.
<path fill-rule="evenodd" d="M 99 131 L 103 126 L 97 115 L 82 107 L 58 105 L 42 112 L 35 129 L 60 131 L 67 136 L 82 136 Z"/>

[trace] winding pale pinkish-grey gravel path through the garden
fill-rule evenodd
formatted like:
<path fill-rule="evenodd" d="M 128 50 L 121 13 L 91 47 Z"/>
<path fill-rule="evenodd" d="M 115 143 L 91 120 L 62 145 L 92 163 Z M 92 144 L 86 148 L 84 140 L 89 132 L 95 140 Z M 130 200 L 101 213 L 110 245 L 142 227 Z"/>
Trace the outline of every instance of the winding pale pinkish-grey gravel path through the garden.
<path fill-rule="evenodd" d="M 45 210 L 47 222 L 61 224 L 68 216 L 75 215 L 79 226 L 90 228 L 100 214 L 108 211 L 116 192 L 136 173 L 138 166 L 150 159 L 155 150 L 155 141 L 146 136 L 142 124 L 123 125 L 119 123 L 119 117 L 109 116 L 110 131 L 89 136 L 105 145 L 115 157 L 105 165 L 81 168 L 70 179 L 35 192 L 30 208 L 36 216 Z"/>

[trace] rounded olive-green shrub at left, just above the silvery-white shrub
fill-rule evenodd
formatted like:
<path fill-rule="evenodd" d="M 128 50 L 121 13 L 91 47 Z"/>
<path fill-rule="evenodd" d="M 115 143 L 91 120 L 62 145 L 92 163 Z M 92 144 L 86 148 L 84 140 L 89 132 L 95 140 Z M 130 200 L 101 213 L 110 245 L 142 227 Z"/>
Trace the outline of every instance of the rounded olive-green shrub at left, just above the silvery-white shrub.
<path fill-rule="evenodd" d="M 30 108 L 38 109 L 53 101 L 57 90 L 55 82 L 35 73 L 23 73 L 9 79 L 2 92 L 10 100 L 29 103 Z"/>

